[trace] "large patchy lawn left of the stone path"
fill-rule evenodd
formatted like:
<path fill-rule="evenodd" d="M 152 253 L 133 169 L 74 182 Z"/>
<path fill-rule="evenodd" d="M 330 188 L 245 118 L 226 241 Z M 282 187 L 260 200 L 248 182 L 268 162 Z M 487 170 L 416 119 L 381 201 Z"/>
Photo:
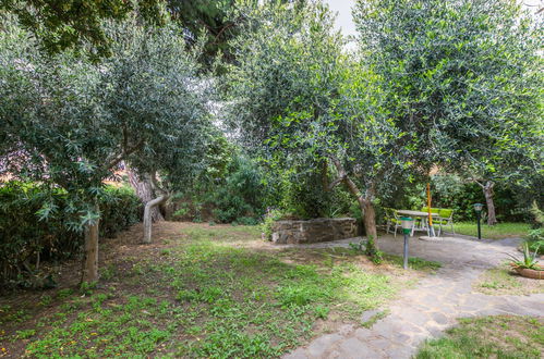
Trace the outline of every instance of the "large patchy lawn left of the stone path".
<path fill-rule="evenodd" d="M 256 227 L 165 222 L 104 246 L 98 287 L 0 298 L 0 356 L 279 357 L 378 308 L 437 263 L 380 265 L 352 249 L 278 248 Z"/>

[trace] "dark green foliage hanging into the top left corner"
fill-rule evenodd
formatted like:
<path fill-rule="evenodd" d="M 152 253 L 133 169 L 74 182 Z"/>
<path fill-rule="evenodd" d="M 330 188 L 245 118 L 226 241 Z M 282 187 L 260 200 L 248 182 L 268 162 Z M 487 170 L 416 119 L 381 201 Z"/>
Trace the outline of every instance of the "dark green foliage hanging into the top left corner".
<path fill-rule="evenodd" d="M 13 13 L 49 53 L 90 46 L 92 54 L 111 54 L 111 38 L 104 29 L 106 20 L 121 21 L 137 11 L 147 21 L 164 23 L 160 0 L 3 0 L 0 11 Z"/>

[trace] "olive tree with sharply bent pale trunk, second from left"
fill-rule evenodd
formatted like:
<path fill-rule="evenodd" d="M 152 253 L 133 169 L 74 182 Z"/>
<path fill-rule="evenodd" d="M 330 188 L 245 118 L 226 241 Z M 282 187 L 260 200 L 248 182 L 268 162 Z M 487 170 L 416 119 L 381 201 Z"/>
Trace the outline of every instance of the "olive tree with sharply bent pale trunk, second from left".
<path fill-rule="evenodd" d="M 129 143 L 147 134 L 145 148 L 125 158 L 156 195 L 145 203 L 144 243 L 152 242 L 153 210 L 190 188 L 211 136 L 210 81 L 198 75 L 201 48 L 185 50 L 181 35 L 177 26 L 150 33 L 131 23 L 117 26 L 114 55 L 101 65 L 100 98 L 110 125 L 132 136 Z"/>

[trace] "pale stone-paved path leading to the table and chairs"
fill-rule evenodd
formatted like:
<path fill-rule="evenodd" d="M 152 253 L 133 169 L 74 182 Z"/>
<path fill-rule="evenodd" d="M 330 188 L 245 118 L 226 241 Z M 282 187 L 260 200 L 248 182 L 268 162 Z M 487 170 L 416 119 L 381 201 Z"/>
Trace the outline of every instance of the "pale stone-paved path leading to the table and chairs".
<path fill-rule="evenodd" d="M 307 245 L 348 247 L 352 238 L 335 243 Z M 426 242 L 410 239 L 410 255 L 443 263 L 435 275 L 422 280 L 388 305 L 389 314 L 372 327 L 343 325 L 337 333 L 326 334 L 310 345 L 285 356 L 302 358 L 410 358 L 427 338 L 439 336 L 457 318 L 494 314 L 544 315 L 544 294 L 531 296 L 487 296 L 472 292 L 472 282 L 487 268 L 515 253 L 519 239 L 471 240 L 446 237 Z M 380 237 L 380 248 L 401 255 L 402 236 Z M 380 308 L 384 310 L 385 308 Z M 366 312 L 371 318 L 377 311 Z M 365 320 L 362 320 L 364 322 Z"/>

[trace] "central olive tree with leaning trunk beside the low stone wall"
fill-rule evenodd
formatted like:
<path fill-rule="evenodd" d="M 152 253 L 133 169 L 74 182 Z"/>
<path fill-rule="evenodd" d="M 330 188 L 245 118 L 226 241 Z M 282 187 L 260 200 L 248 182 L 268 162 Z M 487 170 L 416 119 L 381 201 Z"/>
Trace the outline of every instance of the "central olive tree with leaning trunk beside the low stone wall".
<path fill-rule="evenodd" d="M 402 150 L 387 150 L 399 133 L 382 113 L 385 94 L 371 91 L 372 72 L 342 54 L 327 8 L 293 12 L 280 4 L 250 18 L 226 81 L 230 124 L 264 158 L 322 173 L 327 189 L 346 185 L 364 213 L 368 252 L 376 253 L 373 203 L 404 166 Z"/>

